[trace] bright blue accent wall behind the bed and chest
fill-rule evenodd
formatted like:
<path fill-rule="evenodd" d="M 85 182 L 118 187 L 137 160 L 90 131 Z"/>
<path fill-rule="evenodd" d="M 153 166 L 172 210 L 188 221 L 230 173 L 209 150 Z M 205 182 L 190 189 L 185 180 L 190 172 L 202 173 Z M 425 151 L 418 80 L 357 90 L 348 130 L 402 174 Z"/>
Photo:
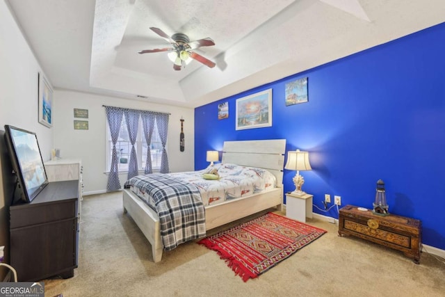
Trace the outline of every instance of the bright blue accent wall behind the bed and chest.
<path fill-rule="evenodd" d="M 389 212 L 420 219 L 423 243 L 445 249 L 444 40 L 445 23 L 196 108 L 195 169 L 224 141 L 286 138 L 286 151 L 309 152 L 302 188 L 318 207 L 328 193 L 371 209 L 382 179 Z M 302 77 L 309 102 L 285 106 L 285 83 Z M 236 99 L 268 88 L 272 127 L 236 131 Z M 229 118 L 218 120 L 223 102 Z M 284 170 L 285 192 L 295 173 Z"/>

